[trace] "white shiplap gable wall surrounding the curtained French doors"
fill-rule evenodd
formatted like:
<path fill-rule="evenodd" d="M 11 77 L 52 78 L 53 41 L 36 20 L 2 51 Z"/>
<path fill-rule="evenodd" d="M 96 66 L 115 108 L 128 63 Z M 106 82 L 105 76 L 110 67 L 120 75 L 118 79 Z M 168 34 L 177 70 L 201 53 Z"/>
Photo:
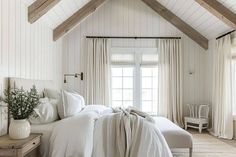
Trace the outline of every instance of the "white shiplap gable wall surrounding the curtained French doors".
<path fill-rule="evenodd" d="M 181 36 L 184 50 L 184 103 L 206 102 L 205 51 L 139 0 L 109 0 L 63 39 L 63 72 L 85 72 L 85 36 Z M 140 42 L 142 44 L 142 42 Z M 194 71 L 189 75 L 189 71 Z M 85 82 L 68 88 L 84 94 Z"/>

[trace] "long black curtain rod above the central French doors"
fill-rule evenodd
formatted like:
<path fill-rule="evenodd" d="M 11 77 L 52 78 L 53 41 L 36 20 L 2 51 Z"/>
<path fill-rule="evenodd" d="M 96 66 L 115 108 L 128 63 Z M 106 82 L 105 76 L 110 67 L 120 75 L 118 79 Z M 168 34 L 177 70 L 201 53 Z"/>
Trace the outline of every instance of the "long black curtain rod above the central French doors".
<path fill-rule="evenodd" d="M 86 38 L 107 38 L 107 39 L 181 39 L 181 37 L 122 37 L 122 36 L 86 36 Z"/>

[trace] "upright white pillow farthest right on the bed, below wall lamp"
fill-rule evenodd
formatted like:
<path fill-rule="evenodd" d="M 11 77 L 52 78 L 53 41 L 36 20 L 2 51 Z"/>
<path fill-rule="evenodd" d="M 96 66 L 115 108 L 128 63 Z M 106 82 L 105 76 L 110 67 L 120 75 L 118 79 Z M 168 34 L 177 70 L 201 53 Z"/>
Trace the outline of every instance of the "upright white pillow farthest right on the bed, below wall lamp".
<path fill-rule="evenodd" d="M 59 111 L 63 110 L 63 115 L 59 112 L 61 118 L 67 118 L 79 113 L 85 106 L 84 98 L 77 94 L 63 90 L 62 91 L 62 109 L 58 106 Z"/>

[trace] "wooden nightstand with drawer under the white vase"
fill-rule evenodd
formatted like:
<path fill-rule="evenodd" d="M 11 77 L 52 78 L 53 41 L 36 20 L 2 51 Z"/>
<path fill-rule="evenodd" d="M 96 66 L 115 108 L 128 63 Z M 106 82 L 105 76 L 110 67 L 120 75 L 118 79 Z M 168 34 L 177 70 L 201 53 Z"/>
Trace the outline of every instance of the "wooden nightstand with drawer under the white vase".
<path fill-rule="evenodd" d="M 31 134 L 23 140 L 12 140 L 9 135 L 0 137 L 0 157 L 39 157 L 41 134 Z"/>

